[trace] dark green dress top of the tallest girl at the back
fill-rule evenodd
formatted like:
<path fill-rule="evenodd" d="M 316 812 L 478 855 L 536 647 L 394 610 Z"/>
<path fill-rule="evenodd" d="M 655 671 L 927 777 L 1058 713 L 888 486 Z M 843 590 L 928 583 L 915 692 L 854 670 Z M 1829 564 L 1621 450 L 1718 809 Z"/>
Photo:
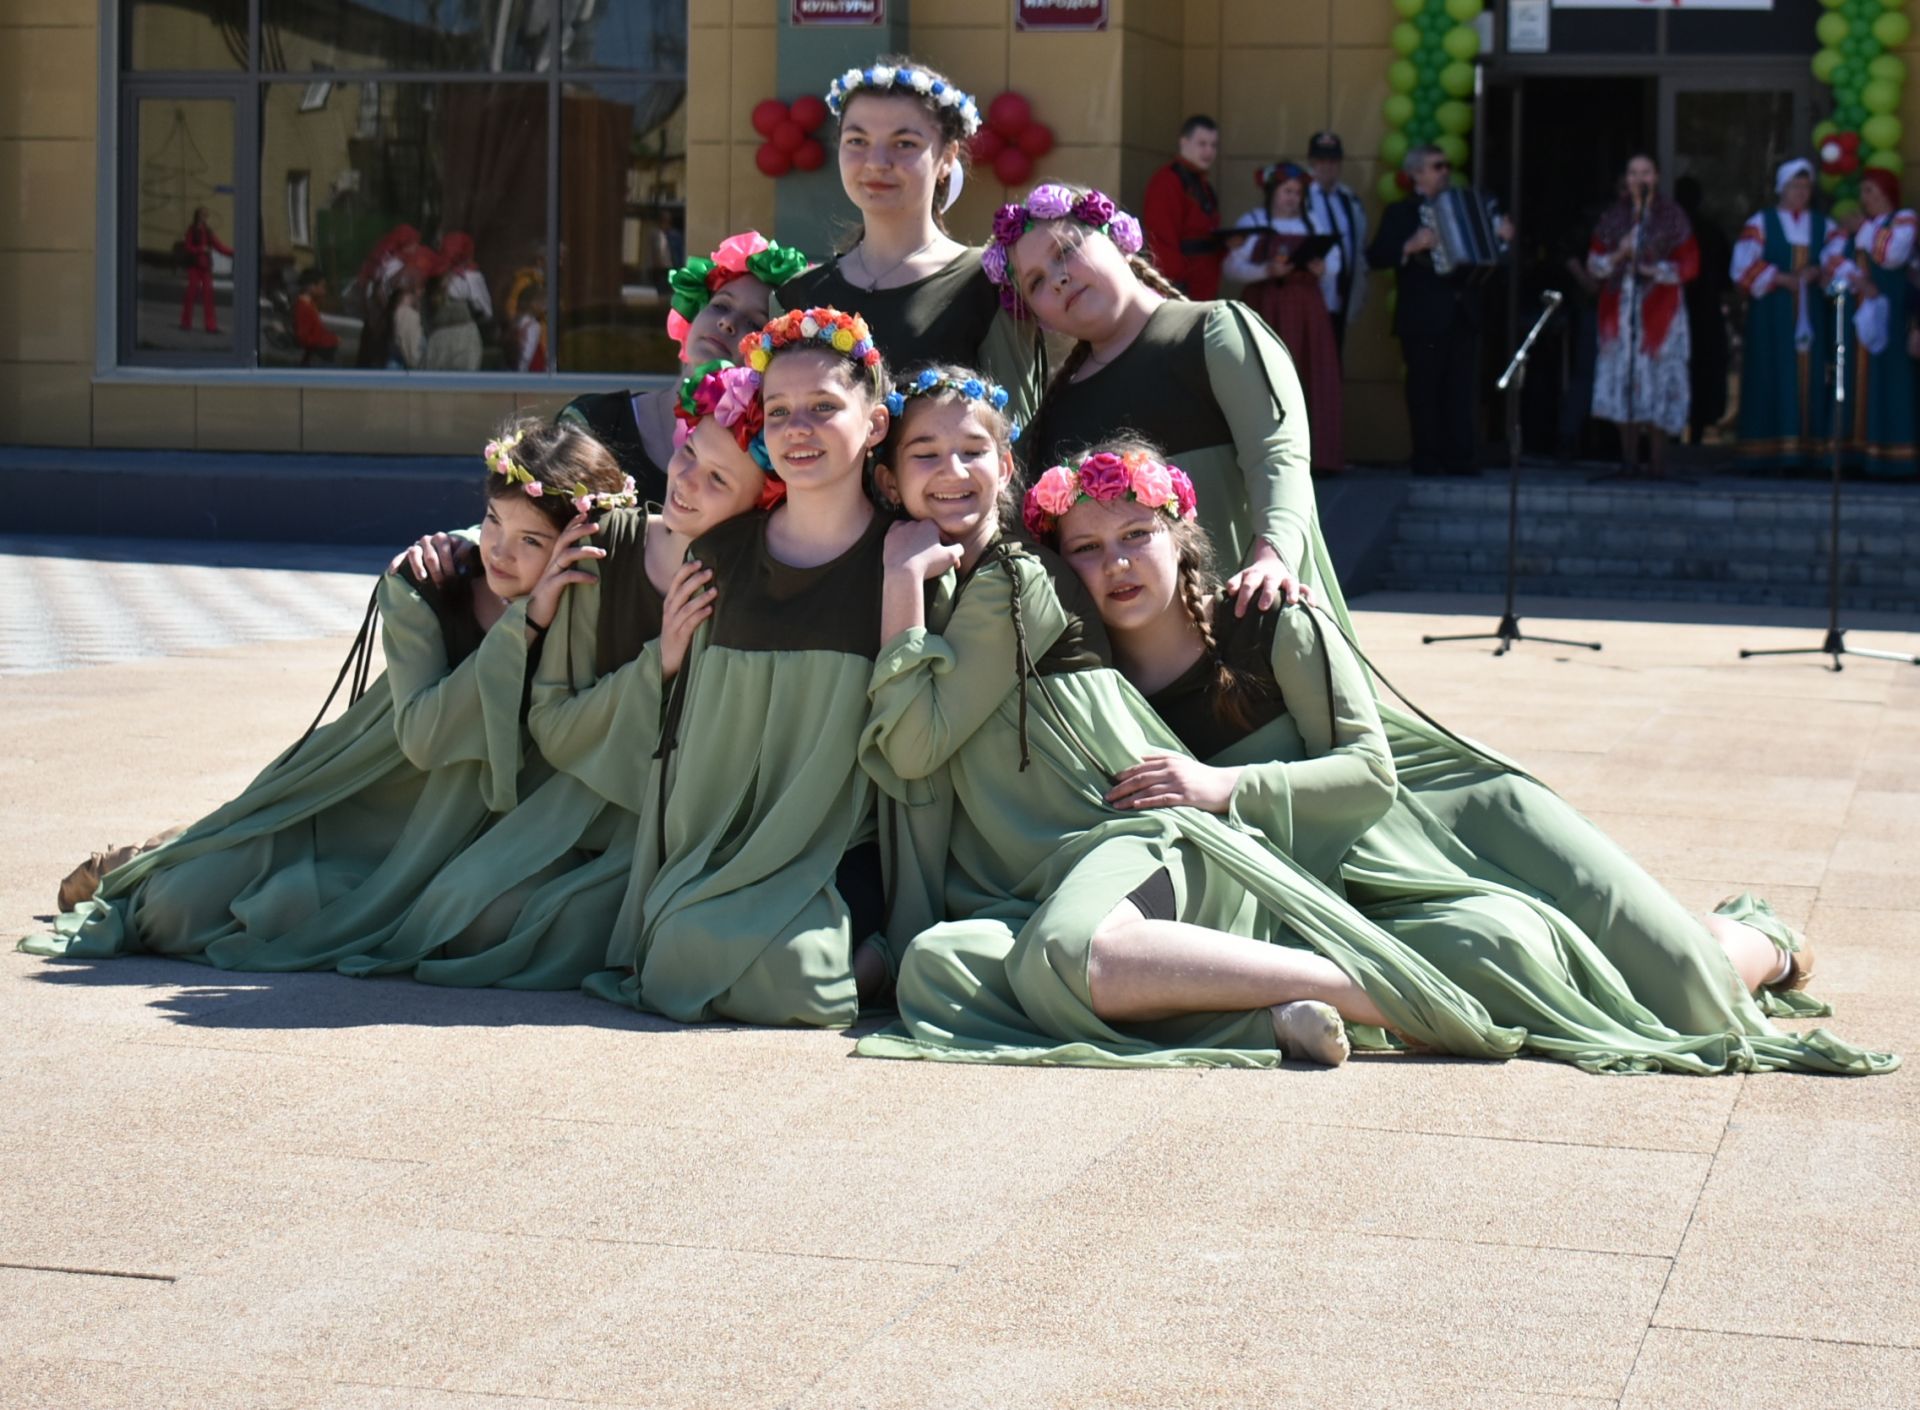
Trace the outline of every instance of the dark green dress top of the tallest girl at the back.
<path fill-rule="evenodd" d="M 962 250 L 899 288 L 860 288 L 841 275 L 835 255 L 774 290 L 774 313 L 822 305 L 858 313 L 889 369 L 972 367 L 1006 388 L 1008 413 L 1025 425 L 1046 386 L 1046 340 L 1037 323 L 1000 307 L 1000 290 L 979 263 L 983 250 Z"/>

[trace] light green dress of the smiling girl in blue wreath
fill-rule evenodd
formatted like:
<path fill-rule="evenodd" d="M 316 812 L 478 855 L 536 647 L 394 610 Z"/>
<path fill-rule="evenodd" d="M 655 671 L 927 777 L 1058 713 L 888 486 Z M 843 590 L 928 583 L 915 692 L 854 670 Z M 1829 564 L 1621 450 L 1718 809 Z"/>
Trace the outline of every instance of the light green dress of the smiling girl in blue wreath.
<path fill-rule="evenodd" d="M 1346 695 L 1361 717 L 1371 693 Z M 1152 751 L 1183 753 L 1139 692 L 1106 663 L 1098 617 L 1046 553 L 998 544 L 929 611 L 929 628 L 881 649 L 862 765 L 891 795 L 950 797 L 950 920 L 900 964 L 897 1030 L 866 1057 L 1091 1066 L 1273 1066 L 1273 1024 L 1252 1012 L 1116 1026 L 1087 993 L 1100 920 L 1165 870 L 1181 920 L 1308 947 L 1377 997 L 1404 1033 L 1450 1053 L 1509 1057 L 1523 1033 L 1369 922 L 1329 880 L 1265 834 L 1196 809 L 1119 811 L 1114 774 Z M 1384 809 L 1392 768 L 1357 720 L 1325 793 L 1356 826 Z M 1288 788 L 1267 797 L 1288 807 Z M 1361 1041 L 1386 1045 L 1377 1030 Z"/>

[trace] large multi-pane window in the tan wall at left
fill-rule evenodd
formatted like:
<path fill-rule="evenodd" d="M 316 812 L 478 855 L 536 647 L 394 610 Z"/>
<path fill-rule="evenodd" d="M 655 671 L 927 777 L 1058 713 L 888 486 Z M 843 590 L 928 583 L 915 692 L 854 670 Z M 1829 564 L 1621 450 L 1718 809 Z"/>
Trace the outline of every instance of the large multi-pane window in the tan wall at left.
<path fill-rule="evenodd" d="M 685 0 L 119 0 L 129 363 L 672 371 Z"/>

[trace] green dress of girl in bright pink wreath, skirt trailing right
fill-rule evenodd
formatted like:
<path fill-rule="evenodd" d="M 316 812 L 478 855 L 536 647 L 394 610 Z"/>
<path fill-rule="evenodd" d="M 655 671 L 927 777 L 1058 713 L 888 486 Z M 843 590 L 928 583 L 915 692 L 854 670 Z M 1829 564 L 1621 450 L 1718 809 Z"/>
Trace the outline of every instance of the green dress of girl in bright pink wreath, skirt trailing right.
<path fill-rule="evenodd" d="M 1329 751 L 1325 701 L 1331 693 L 1342 718 L 1365 715 L 1356 709 L 1369 693 L 1365 669 L 1308 609 L 1236 619 L 1215 601 L 1213 620 L 1221 657 L 1260 686 L 1252 718 L 1221 718 L 1212 661 L 1196 663 L 1148 703 L 1194 757 L 1242 770 L 1233 793 L 1236 820 L 1340 884 L 1361 914 L 1430 960 L 1496 1022 L 1526 1030 L 1528 1053 L 1620 1072 L 1866 1074 L 1897 1066 L 1891 1055 L 1851 1047 L 1826 1030 L 1784 1033 L 1768 1024 L 1707 928 L 1532 780 L 1517 778 L 1519 790 L 1509 793 L 1515 836 L 1524 836 L 1548 799 L 1561 813 L 1561 832 L 1586 828 L 1582 866 L 1567 878 L 1563 895 L 1590 922 L 1601 922 L 1628 968 L 1561 911 L 1561 897 L 1475 853 L 1428 805 L 1436 790 L 1419 793 L 1396 782 L 1390 805 L 1375 809 L 1359 830 L 1365 811 L 1329 807 L 1338 799 L 1327 790 L 1302 795 L 1302 780 L 1319 776 L 1342 751 Z M 1384 753 L 1377 720 L 1367 722 L 1367 747 Z M 1438 791 L 1442 805 L 1450 801 Z M 1740 897 L 1724 911 L 1780 943 L 1795 943 L 1763 901 Z M 1636 936 L 1636 918 L 1663 934 Z M 1776 1012 L 1826 1012 L 1805 995 L 1764 991 L 1763 999 Z M 1686 1016 L 1692 1026 L 1663 1022 L 1659 1012 Z"/>

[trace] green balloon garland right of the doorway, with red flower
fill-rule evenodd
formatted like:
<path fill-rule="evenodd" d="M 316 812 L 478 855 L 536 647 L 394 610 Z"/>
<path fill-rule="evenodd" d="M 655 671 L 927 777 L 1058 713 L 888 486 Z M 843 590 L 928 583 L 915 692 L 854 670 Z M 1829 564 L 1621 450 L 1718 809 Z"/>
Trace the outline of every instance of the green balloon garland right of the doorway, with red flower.
<path fill-rule="evenodd" d="M 1887 50 L 1912 35 L 1907 0 L 1820 0 L 1814 21 L 1820 40 L 1812 77 L 1834 88 L 1834 115 L 1812 129 L 1820 190 L 1843 209 L 1860 198 L 1860 171 L 1885 167 L 1899 175 L 1901 88 L 1907 61 Z"/>

